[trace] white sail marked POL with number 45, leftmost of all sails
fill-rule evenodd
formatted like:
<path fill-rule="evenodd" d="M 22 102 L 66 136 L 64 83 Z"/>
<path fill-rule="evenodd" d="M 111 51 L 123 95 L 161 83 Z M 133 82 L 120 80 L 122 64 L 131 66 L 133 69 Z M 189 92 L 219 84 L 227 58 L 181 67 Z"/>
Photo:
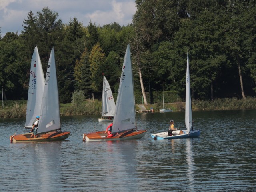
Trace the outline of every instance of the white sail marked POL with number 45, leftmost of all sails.
<path fill-rule="evenodd" d="M 44 92 L 44 72 L 38 53 L 38 48 L 34 48 L 31 59 L 30 78 L 28 88 L 28 102 L 26 111 L 26 128 L 32 128 L 32 123 L 39 116 Z"/>

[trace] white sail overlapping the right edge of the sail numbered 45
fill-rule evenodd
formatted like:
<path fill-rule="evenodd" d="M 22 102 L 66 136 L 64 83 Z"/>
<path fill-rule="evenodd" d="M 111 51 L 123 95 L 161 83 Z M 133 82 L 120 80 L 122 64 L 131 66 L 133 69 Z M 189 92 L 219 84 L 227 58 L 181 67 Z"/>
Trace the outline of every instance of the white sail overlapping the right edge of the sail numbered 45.
<path fill-rule="evenodd" d="M 60 108 L 58 97 L 58 85 L 56 76 L 56 66 L 54 48 L 52 48 L 48 62 L 38 134 L 50 132 L 60 128 Z"/>

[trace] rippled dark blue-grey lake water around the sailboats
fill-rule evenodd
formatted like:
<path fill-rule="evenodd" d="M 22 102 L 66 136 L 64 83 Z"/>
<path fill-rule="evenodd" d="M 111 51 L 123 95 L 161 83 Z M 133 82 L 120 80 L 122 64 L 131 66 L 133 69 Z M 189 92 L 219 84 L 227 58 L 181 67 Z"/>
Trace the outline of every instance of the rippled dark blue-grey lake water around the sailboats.
<path fill-rule="evenodd" d="M 61 117 L 67 140 L 10 143 L 25 119 L 0 119 L 0 191 L 256 191 L 256 110 L 193 112 L 199 138 L 153 140 L 184 112 L 137 114 L 138 140 L 82 142 L 100 116 Z"/>

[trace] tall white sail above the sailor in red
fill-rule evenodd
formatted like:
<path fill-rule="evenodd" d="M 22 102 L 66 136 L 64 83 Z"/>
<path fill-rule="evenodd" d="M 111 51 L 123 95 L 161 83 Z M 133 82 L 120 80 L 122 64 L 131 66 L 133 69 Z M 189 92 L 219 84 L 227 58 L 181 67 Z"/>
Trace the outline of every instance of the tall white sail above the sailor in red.
<path fill-rule="evenodd" d="M 115 117 L 112 134 L 136 128 L 134 85 L 130 44 L 127 45 L 124 56 L 118 95 L 116 100 Z"/>

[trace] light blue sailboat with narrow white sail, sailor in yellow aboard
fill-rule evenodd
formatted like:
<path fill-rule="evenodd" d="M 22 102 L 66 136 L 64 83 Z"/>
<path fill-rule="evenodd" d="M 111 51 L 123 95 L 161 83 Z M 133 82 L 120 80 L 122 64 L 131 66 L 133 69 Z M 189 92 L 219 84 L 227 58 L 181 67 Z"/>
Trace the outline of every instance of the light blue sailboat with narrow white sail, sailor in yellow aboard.
<path fill-rule="evenodd" d="M 182 130 L 183 134 L 168 136 L 168 131 L 167 131 L 162 133 L 151 134 L 151 137 L 154 138 L 154 140 L 162 140 L 162 139 L 178 139 L 178 138 L 195 138 L 200 136 L 200 129 L 199 130 L 193 129 L 188 56 L 187 56 L 187 72 L 186 72 L 185 125 L 186 125 L 186 130 Z M 172 131 L 172 132 L 177 132 L 177 131 Z"/>

